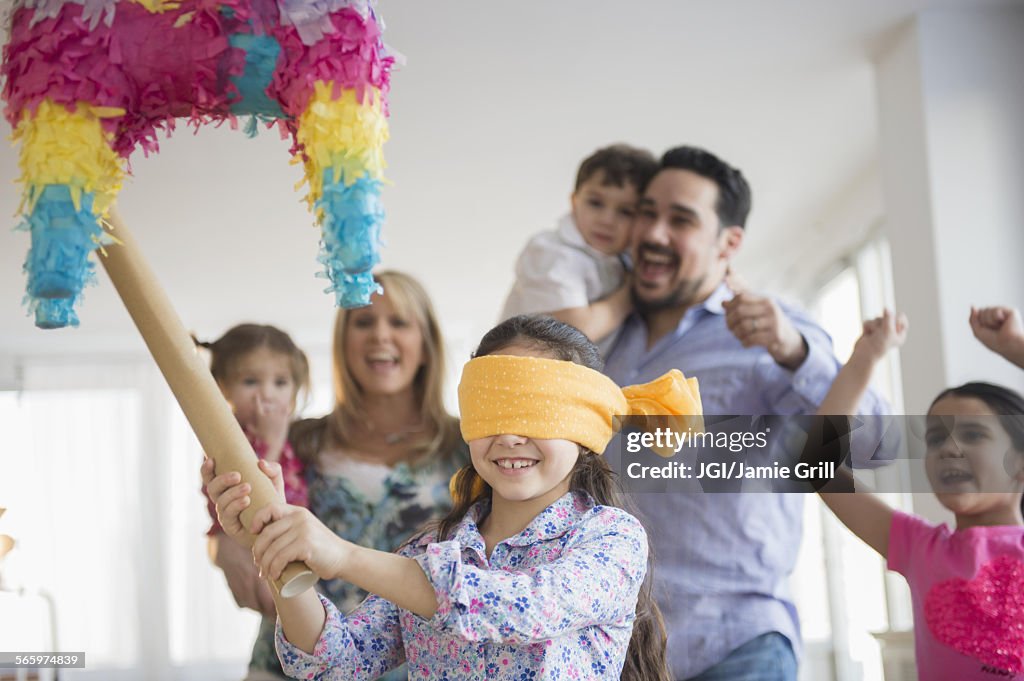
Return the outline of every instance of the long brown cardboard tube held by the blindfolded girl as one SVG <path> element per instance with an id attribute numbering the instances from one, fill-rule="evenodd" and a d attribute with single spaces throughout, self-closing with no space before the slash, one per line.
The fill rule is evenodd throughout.
<path id="1" fill-rule="evenodd" d="M 258 459 L 209 368 L 196 352 L 195 343 L 131 232 L 113 209 L 110 223 L 121 243 L 106 246 L 106 256 L 100 261 L 203 450 L 214 460 L 217 473 L 239 471 L 242 479 L 252 485 L 252 503 L 242 512 L 243 525 L 248 528 L 257 510 L 279 500 L 273 484 L 257 466 Z M 251 544 L 253 538 L 247 539 Z M 273 586 L 283 596 L 291 597 L 315 583 L 312 570 L 304 563 L 293 562 Z"/>

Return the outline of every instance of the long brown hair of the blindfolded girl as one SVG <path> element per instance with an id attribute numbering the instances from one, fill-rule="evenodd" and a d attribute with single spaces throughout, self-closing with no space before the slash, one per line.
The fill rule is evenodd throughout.
<path id="1" fill-rule="evenodd" d="M 556 359 L 573 361 L 600 371 L 604 363 L 597 347 L 574 327 L 562 324 L 549 316 L 514 316 L 492 329 L 480 341 L 473 353 L 474 357 L 494 354 L 511 345 L 536 347 Z M 580 446 L 580 458 L 570 473 L 569 490 L 586 492 L 602 506 L 622 508 L 633 515 L 639 515 L 633 505 L 622 494 L 618 478 L 603 457 L 585 446 Z M 437 525 L 437 539 L 444 541 L 462 521 L 469 508 L 481 499 L 490 497 L 490 487 L 485 483 L 480 492 L 479 476 L 470 465 L 456 473 L 453 482 L 455 508 Z M 473 495 L 476 491 L 478 494 Z M 622 678 L 625 681 L 671 681 L 666 661 L 665 621 L 662 610 L 651 594 L 652 553 L 647 556 L 647 576 L 640 585 L 637 598 L 636 621 L 633 636 L 623 665 Z"/>

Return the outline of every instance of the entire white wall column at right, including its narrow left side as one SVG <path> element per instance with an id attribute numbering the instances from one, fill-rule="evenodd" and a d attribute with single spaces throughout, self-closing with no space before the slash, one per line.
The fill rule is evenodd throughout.
<path id="1" fill-rule="evenodd" d="M 907 409 L 971 379 L 1024 388 L 971 305 L 1024 304 L 1024 8 L 934 9 L 880 56 L 880 154 Z"/>

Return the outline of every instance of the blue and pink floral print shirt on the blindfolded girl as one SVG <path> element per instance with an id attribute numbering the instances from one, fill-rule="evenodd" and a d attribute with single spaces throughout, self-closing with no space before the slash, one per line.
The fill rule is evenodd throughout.
<path id="1" fill-rule="evenodd" d="M 375 679 L 409 663 L 436 681 L 617 679 L 640 585 L 647 536 L 617 508 L 569 493 L 486 556 L 474 505 L 444 542 L 423 536 L 399 553 L 419 562 L 437 595 L 425 620 L 376 595 L 347 616 L 328 599 L 314 653 L 285 639 L 278 652 L 297 679 Z"/>

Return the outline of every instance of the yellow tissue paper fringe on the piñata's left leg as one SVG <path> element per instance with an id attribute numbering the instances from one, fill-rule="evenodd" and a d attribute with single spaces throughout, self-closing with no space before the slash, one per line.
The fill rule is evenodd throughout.
<path id="1" fill-rule="evenodd" d="M 83 193 L 92 193 L 96 216 L 106 215 L 124 181 L 113 136 L 101 119 L 124 116 L 123 109 L 79 103 L 74 111 L 44 99 L 35 116 L 26 111 L 11 139 L 20 141 L 18 165 L 25 184 L 18 213 L 31 213 L 47 184 L 67 184 L 76 209 Z"/>

